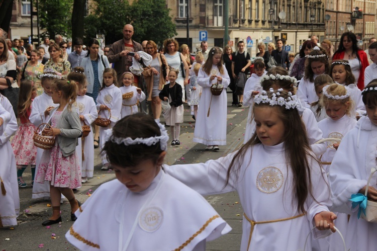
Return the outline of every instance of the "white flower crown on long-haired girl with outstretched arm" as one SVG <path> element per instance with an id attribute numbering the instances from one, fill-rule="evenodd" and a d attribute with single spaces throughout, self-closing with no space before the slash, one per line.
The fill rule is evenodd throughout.
<path id="1" fill-rule="evenodd" d="M 299 111 L 303 110 L 303 107 L 299 100 L 292 98 L 292 93 L 288 93 L 288 98 L 285 99 L 284 97 L 280 97 L 280 92 L 282 92 L 282 89 L 278 89 L 276 92 L 273 90 L 273 88 L 270 88 L 268 93 L 272 94 L 272 97 L 269 98 L 266 91 L 262 91 L 261 94 L 258 94 L 254 97 L 254 103 L 255 104 L 268 104 L 270 106 L 281 106 L 285 107 L 286 110 L 290 109 L 297 109 Z"/>

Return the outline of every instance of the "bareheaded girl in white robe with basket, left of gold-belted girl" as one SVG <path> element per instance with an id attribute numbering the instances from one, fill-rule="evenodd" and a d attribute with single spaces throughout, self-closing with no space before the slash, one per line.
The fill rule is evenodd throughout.
<path id="1" fill-rule="evenodd" d="M 100 127 L 100 149 L 105 145 L 104 131 L 112 128 L 118 120 L 121 119 L 122 109 L 122 92 L 116 87 L 117 72 L 113 68 L 106 68 L 104 70 L 104 79 L 102 88 L 97 97 L 97 110 L 101 118 L 108 118 L 111 123 L 108 127 Z M 111 117 L 110 117 L 111 113 Z M 110 117 L 110 118 L 109 118 Z M 109 170 L 109 161 L 104 154 L 101 154 L 102 170 Z"/>

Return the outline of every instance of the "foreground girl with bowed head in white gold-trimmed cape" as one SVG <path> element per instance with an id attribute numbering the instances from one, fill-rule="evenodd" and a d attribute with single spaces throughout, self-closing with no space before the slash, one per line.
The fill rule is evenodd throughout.
<path id="1" fill-rule="evenodd" d="M 161 169 L 169 140 L 161 123 L 137 113 L 105 133 L 117 179 L 76 211 L 65 234 L 70 243 L 80 250 L 204 251 L 206 241 L 231 230 L 201 195 Z"/>

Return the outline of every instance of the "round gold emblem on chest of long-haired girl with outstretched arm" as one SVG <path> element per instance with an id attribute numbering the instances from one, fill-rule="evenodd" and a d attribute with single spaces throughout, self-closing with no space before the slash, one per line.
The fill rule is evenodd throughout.
<path id="1" fill-rule="evenodd" d="M 270 194 L 279 190 L 284 181 L 280 170 L 274 166 L 268 166 L 259 171 L 256 178 L 256 185 L 260 192 Z"/>

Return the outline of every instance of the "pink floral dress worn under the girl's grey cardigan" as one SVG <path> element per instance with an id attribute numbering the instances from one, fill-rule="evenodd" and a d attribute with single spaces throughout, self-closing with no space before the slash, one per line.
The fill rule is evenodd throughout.
<path id="1" fill-rule="evenodd" d="M 56 128 L 62 112 L 55 111 L 51 118 L 51 127 Z M 57 136 L 61 137 L 61 136 Z M 77 188 L 81 186 L 81 170 L 76 152 L 64 157 L 57 139 L 50 150 L 44 150 L 36 182 L 44 183 L 49 181 L 51 186 L 59 188 Z"/>

